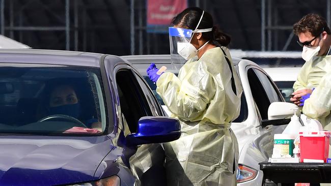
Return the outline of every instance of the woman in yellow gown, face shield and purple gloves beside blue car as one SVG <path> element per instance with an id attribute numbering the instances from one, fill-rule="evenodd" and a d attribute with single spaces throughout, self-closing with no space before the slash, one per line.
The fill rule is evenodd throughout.
<path id="1" fill-rule="evenodd" d="M 180 139 L 164 143 L 168 185 L 236 185 L 238 143 L 230 129 L 240 112 L 242 86 L 210 14 L 188 8 L 169 28 L 173 63 L 187 60 L 178 76 L 147 69 L 157 93 L 181 121 Z M 180 57 L 181 56 L 181 57 Z"/>

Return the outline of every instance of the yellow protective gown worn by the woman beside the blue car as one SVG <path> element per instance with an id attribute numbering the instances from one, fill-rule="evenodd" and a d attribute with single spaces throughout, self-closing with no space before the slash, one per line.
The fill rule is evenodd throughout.
<path id="1" fill-rule="evenodd" d="M 183 132 L 163 144 L 168 185 L 236 185 L 238 142 L 230 126 L 239 115 L 242 87 L 224 50 L 229 64 L 216 47 L 188 60 L 178 77 L 167 72 L 156 82 Z"/>

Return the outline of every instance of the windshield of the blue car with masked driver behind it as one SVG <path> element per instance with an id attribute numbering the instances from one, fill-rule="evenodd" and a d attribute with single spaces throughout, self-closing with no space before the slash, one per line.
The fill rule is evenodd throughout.
<path id="1" fill-rule="evenodd" d="M 99 135 L 103 92 L 98 68 L 1 64 L 0 133 Z"/>

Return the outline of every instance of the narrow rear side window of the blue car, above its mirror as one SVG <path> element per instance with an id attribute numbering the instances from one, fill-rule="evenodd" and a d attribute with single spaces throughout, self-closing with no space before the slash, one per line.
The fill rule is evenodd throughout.
<path id="1" fill-rule="evenodd" d="M 139 82 L 140 86 L 142 87 L 142 90 L 145 94 L 147 103 L 149 104 L 149 107 L 152 111 L 153 116 L 162 116 L 163 113 L 161 111 L 161 106 L 157 102 L 155 96 L 153 95 L 153 92 L 151 91 L 150 87 L 146 83 L 146 81 L 143 80 L 143 78 L 137 74 L 136 72 L 134 73 L 137 81 Z"/>

